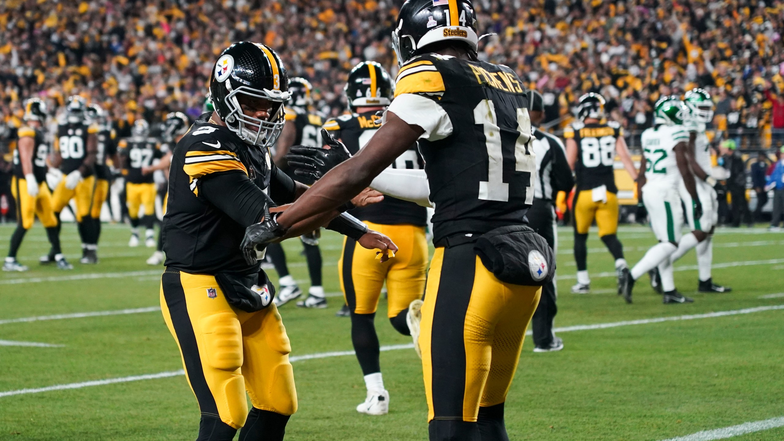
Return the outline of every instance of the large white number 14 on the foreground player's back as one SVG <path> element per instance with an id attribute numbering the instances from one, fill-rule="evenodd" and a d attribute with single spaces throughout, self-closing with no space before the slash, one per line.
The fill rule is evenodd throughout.
<path id="1" fill-rule="evenodd" d="M 481 100 L 477 104 L 474 108 L 474 123 L 483 126 L 485 146 L 488 149 L 488 180 L 479 181 L 479 199 L 508 202 L 509 184 L 503 181 L 501 131 L 492 100 Z M 525 148 L 525 145 L 533 139 L 528 109 L 517 109 L 517 131 L 520 136 L 514 143 L 514 170 L 508 170 L 507 175 L 511 176 L 514 172 L 531 173 L 525 188 L 525 203 L 531 204 L 534 199 L 532 183 L 536 174 L 536 159 Z"/>

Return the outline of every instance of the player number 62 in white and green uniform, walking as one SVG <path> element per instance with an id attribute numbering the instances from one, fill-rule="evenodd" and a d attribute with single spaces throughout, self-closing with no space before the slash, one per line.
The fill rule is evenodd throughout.
<path id="1" fill-rule="evenodd" d="M 640 176 L 637 177 L 637 194 L 638 199 L 644 202 L 651 218 L 651 229 L 659 243 L 652 246 L 631 271 L 623 270 L 619 289 L 626 302 L 631 303 L 635 280 L 658 267 L 663 302 L 689 303 L 693 300 L 675 289 L 673 264 L 670 261 L 670 256 L 675 253 L 681 240 L 681 225 L 684 221 L 681 197 L 678 195 L 679 180 L 683 180 L 691 196 L 692 203 L 687 210 L 693 210 L 696 218 L 702 218 L 702 203 L 697 197 L 695 177 L 691 172 L 695 164 L 690 160 L 689 134 L 683 126 L 688 109 L 677 97 L 662 97 L 655 104 L 654 115 L 655 126 L 645 129 L 641 137 L 643 158 L 640 162 Z"/>

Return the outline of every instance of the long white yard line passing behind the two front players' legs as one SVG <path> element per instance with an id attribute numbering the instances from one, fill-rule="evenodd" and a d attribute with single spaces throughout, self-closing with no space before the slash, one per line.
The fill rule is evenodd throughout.
<path id="1" fill-rule="evenodd" d="M 784 309 L 784 304 L 777 304 L 775 306 L 760 306 L 757 308 L 736 309 L 734 311 L 709 312 L 707 314 L 675 315 L 673 317 L 659 317 L 656 319 L 641 319 L 641 320 L 629 320 L 626 322 L 596 323 L 593 325 L 567 326 L 563 328 L 556 328 L 554 331 L 570 332 L 575 330 L 599 330 L 604 328 L 612 328 L 616 326 L 642 325 L 645 323 L 659 323 L 659 322 L 669 322 L 675 320 L 707 319 L 710 317 L 722 317 L 724 315 L 750 314 L 752 312 L 771 311 L 775 309 Z M 531 335 L 531 333 L 532 333 L 531 331 L 528 331 L 526 335 Z M 414 344 L 408 343 L 408 344 L 391 344 L 389 346 L 382 346 L 379 349 L 381 351 L 395 351 L 397 349 L 411 349 L 413 347 Z M 289 357 L 289 361 L 294 363 L 303 360 L 326 359 L 331 357 L 354 355 L 354 353 L 355 353 L 354 351 L 336 351 L 336 352 L 318 352 L 315 354 L 306 354 L 306 355 L 292 355 Z M 112 383 L 125 383 L 127 381 L 151 380 L 154 378 L 163 378 L 163 377 L 176 377 L 177 375 L 184 375 L 184 374 L 185 372 L 183 370 L 174 370 L 170 372 L 159 372 L 158 374 L 134 375 L 132 377 L 109 378 L 107 380 L 98 380 L 98 381 L 84 381 L 82 383 L 71 383 L 68 385 L 47 386 L 45 388 L 20 389 L 16 391 L 0 392 L 0 398 L 4 396 L 10 396 L 10 395 L 32 394 L 38 392 L 58 391 L 62 389 L 78 389 L 78 388 L 85 388 L 88 386 L 111 385 Z M 706 438 L 706 439 L 718 439 L 718 438 Z M 672 440 L 666 440 L 666 441 L 672 441 Z M 697 440 L 690 439 L 689 441 L 697 441 Z"/>

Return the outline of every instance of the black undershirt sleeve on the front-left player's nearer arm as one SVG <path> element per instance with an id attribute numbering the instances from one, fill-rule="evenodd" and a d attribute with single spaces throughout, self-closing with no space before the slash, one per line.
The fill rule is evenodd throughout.
<path id="1" fill-rule="evenodd" d="M 256 224 L 264 215 L 270 198 L 256 187 L 245 173 L 210 173 L 199 180 L 199 196 L 243 227 Z"/>

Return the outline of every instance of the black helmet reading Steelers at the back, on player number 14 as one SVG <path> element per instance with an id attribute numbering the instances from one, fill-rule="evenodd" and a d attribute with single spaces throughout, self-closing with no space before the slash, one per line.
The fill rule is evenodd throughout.
<path id="1" fill-rule="evenodd" d="M 425 46 L 445 40 L 468 43 L 476 52 L 477 13 L 470 0 L 406 0 L 397 14 L 392 47 L 397 63 L 426 53 Z"/>

